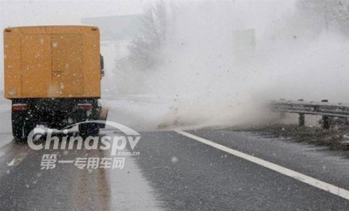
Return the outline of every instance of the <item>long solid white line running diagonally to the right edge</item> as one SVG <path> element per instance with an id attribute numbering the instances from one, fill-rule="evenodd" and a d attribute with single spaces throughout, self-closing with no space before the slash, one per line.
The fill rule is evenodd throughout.
<path id="1" fill-rule="evenodd" d="M 190 134 L 188 132 L 184 132 L 181 130 L 175 130 L 175 132 L 182 134 L 184 136 L 187 136 L 188 138 L 194 139 L 196 141 L 199 141 L 201 143 L 205 143 L 211 147 L 214 147 L 218 150 L 222 150 L 225 153 L 229 153 L 231 155 L 235 155 L 237 157 L 241 157 L 242 159 L 246 159 L 250 162 L 253 162 L 255 164 L 258 164 L 260 166 L 264 166 L 267 169 L 272 169 L 273 171 L 282 173 L 283 175 L 287 175 L 291 178 L 294 178 L 295 180 L 299 180 L 301 182 L 304 182 L 308 185 L 311 185 L 313 187 L 317 187 L 319 189 L 324 190 L 325 192 L 329 192 L 331 194 L 334 194 L 336 196 L 341 196 L 342 198 L 346 198 L 347 200 L 349 200 L 349 191 L 346 189 L 343 189 L 341 187 L 337 187 L 335 185 L 331 185 L 327 182 L 322 182 L 321 180 L 317 180 L 315 178 L 312 178 L 308 175 L 305 175 L 303 173 L 299 173 L 297 171 L 293 171 L 291 169 L 287 169 L 283 166 L 279 166 L 277 164 L 274 164 L 272 162 L 267 162 L 264 159 L 260 159 L 258 157 L 253 157 L 252 155 L 247 155 L 245 153 L 239 152 L 237 150 L 233 150 L 231 148 L 228 148 L 226 146 L 223 146 L 221 144 L 218 143 L 214 143 L 213 141 L 209 141 L 207 139 L 201 138 L 199 136 L 195 136 L 193 134 Z"/>

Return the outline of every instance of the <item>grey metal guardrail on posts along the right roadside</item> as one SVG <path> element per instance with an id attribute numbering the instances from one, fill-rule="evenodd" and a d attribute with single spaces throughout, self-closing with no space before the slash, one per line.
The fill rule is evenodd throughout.
<path id="1" fill-rule="evenodd" d="M 349 104 L 329 103 L 304 100 L 273 100 L 270 104 L 272 111 L 299 114 L 299 125 L 304 126 L 305 114 L 322 116 L 322 127 L 329 129 L 333 118 L 349 118 Z"/>

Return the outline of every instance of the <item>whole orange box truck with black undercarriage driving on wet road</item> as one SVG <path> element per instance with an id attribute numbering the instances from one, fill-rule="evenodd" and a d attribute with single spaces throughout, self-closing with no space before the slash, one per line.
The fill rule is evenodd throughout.
<path id="1" fill-rule="evenodd" d="M 4 29 L 5 98 L 12 101 L 12 130 L 26 140 L 36 125 L 62 129 L 106 120 L 104 75 L 96 26 L 22 26 Z M 79 124 L 98 134 L 102 124 Z"/>

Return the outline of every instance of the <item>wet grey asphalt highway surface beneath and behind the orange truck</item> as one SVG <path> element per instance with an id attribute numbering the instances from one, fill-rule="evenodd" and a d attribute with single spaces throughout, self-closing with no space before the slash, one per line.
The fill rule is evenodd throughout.
<path id="1" fill-rule="evenodd" d="M 33 150 L 1 125 L 0 210 L 349 210 L 344 154 L 228 130 L 140 135 L 122 169 L 80 169 L 68 162 L 110 151 Z M 44 154 L 66 163 L 43 169 Z"/>

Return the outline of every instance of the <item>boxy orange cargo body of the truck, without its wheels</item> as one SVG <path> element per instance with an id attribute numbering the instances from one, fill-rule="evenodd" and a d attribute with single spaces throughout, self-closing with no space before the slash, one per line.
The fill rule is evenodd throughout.
<path id="1" fill-rule="evenodd" d="M 5 97 L 101 97 L 95 26 L 24 26 L 3 31 Z"/>

